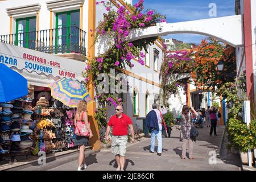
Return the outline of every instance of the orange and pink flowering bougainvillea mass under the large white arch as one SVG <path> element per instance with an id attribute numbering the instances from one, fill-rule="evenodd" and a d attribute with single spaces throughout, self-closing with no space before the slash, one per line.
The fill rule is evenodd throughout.
<path id="1" fill-rule="evenodd" d="M 223 71 L 217 64 L 222 61 Z M 187 77 L 177 79 L 174 75 L 190 73 Z M 164 59 L 160 69 L 164 97 L 179 94 L 179 86 L 186 90 L 192 81 L 198 90 L 215 90 L 225 82 L 234 81 L 236 76 L 236 52 L 231 46 L 212 38 L 202 40 L 196 50 L 170 52 L 164 46 Z M 164 98 L 164 100 L 166 100 Z"/>

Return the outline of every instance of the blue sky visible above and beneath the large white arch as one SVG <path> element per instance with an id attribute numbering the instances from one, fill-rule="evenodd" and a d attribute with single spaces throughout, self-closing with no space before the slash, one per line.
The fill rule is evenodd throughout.
<path id="1" fill-rule="evenodd" d="M 138 0 L 133 0 L 133 4 L 137 2 Z M 235 0 L 144 0 L 144 9 L 154 9 L 158 13 L 166 15 L 168 23 L 175 23 L 235 15 L 234 2 Z M 216 17 L 209 16 L 210 3 L 216 3 Z M 196 34 L 172 34 L 163 38 L 174 38 L 185 43 L 200 44 L 201 40 L 206 37 Z"/>

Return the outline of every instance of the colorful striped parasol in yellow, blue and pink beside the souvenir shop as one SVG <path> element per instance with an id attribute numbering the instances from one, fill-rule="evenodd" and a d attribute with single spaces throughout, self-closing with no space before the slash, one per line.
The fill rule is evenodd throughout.
<path id="1" fill-rule="evenodd" d="M 78 81 L 61 78 L 59 81 L 49 84 L 49 88 L 51 88 L 53 98 L 69 107 L 76 107 L 81 100 L 85 100 L 87 104 L 92 101 L 85 86 Z"/>

